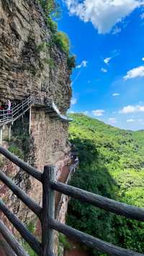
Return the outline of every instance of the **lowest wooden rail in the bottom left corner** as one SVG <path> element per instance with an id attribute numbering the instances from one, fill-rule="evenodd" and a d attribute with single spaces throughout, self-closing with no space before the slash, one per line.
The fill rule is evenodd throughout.
<path id="1" fill-rule="evenodd" d="M 24 252 L 24 249 L 22 248 L 22 246 L 19 244 L 19 242 L 17 242 L 14 235 L 9 231 L 9 229 L 6 228 L 6 226 L 1 220 L 0 220 L 0 231 L 4 239 L 6 240 L 6 242 L 8 242 L 10 247 L 12 247 L 12 249 L 17 254 L 17 256 L 28 256 L 27 252 Z"/>

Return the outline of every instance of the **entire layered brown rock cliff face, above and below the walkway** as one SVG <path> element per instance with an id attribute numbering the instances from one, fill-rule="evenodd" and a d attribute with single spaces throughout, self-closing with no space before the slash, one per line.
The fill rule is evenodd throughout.
<path id="1" fill-rule="evenodd" d="M 0 97 L 1 102 L 11 99 L 19 102 L 34 93 L 50 97 L 60 112 L 66 113 L 71 102 L 71 81 L 67 59 L 56 45 L 40 50 L 40 46 L 52 38 L 52 32 L 45 25 L 40 6 L 34 0 L 0 0 Z M 39 49 L 39 50 L 38 50 Z M 50 61 L 53 59 L 53 66 Z M 32 107 L 31 134 L 28 136 L 29 112 L 17 120 L 12 127 L 12 143 L 17 144 L 17 133 L 21 131 L 21 149 L 25 144 L 24 160 L 41 171 L 45 164 L 55 164 L 57 178 L 65 175 L 71 164 L 68 146 L 68 123 L 50 118 L 45 110 Z M 25 125 L 27 124 L 27 125 Z M 25 128 L 25 126 L 27 126 Z M 6 129 L 5 129 L 6 133 Z M 23 138 L 27 133 L 27 140 Z M 24 145 L 22 145 L 24 143 Z M 3 141 L 7 149 L 9 145 Z M 40 182 L 25 174 L 11 162 L 0 158 L 3 171 L 24 191 L 42 202 Z M 26 224 L 35 220 L 29 209 L 20 202 L 5 185 L 0 183 L 0 196 L 19 219 Z M 65 221 L 68 198 L 63 201 L 58 219 Z M 14 234 L 17 232 L 0 213 L 5 224 Z M 36 222 L 35 222 L 36 224 Z M 40 234 L 39 224 L 35 234 Z M 56 247 L 55 247 L 56 248 Z M 56 251 L 55 251 L 56 252 Z"/>

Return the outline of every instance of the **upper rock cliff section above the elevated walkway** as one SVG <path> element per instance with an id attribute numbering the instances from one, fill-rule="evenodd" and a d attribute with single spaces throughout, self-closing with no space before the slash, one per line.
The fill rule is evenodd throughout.
<path id="1" fill-rule="evenodd" d="M 35 0 L 0 1 L 0 95 L 22 100 L 31 93 L 52 97 L 61 112 L 71 99 L 65 54 L 50 44 L 52 33 L 45 25 Z M 50 60 L 53 59 L 53 67 Z"/>

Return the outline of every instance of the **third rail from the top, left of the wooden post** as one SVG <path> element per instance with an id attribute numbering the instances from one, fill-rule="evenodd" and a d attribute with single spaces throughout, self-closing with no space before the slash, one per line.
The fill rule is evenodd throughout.
<path id="1" fill-rule="evenodd" d="M 30 244 L 30 247 L 37 253 L 37 255 L 41 255 L 42 248 L 40 242 L 37 241 L 37 239 L 26 229 L 24 224 L 17 219 L 16 216 L 14 216 L 14 213 L 9 211 L 9 209 L 6 207 L 4 202 L 0 199 L 0 210 L 6 215 L 7 219 L 12 222 L 14 227 L 19 231 L 19 233 L 22 235 L 24 240 Z"/>

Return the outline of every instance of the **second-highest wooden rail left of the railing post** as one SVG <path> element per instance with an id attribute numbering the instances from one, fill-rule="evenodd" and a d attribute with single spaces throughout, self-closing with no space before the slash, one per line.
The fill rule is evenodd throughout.
<path id="1" fill-rule="evenodd" d="M 4 184 L 12 190 L 12 192 L 17 195 L 18 198 L 22 200 L 23 203 L 26 204 L 40 219 L 40 213 L 42 208 L 35 203 L 20 187 L 14 184 L 9 177 L 7 177 L 4 172 L 0 170 L 0 180 L 4 182 Z"/>

